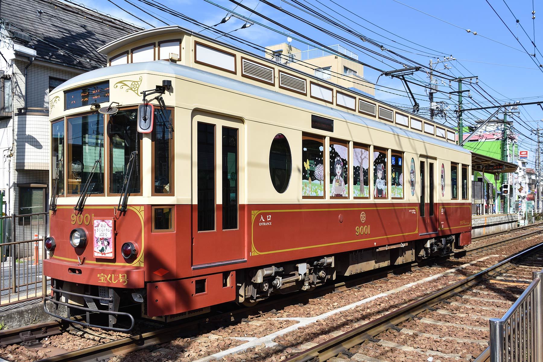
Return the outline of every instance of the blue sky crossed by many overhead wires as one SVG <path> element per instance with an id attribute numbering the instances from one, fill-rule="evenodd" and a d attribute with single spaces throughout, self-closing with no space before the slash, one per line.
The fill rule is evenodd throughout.
<path id="1" fill-rule="evenodd" d="M 118 9 L 115 5 L 107 0 L 85 0 L 83 2 L 89 8 L 96 8 L 106 14 L 123 18 L 145 28 L 150 28 L 149 25 L 142 23 L 130 14 L 153 24 L 154 26 L 163 26 L 164 24 L 157 21 L 155 18 L 145 14 L 141 10 L 136 9 L 126 1 L 113 0 L 119 7 L 127 10 L 127 12 Z M 155 0 L 148 0 L 154 2 Z M 209 1 L 209 2 L 208 2 Z M 326 35 L 320 30 L 302 23 L 293 17 L 283 14 L 279 10 L 271 8 L 269 5 L 258 0 L 243 0 L 242 4 L 261 12 L 263 15 L 279 22 L 282 26 L 291 28 L 299 33 L 309 37 L 312 40 L 319 41 L 325 45 L 334 45 L 340 43 L 346 48 L 349 48 L 359 56 L 359 60 L 375 66 L 384 71 L 390 69 L 402 68 L 402 62 L 406 65 L 412 65 L 409 60 L 428 65 L 430 59 L 435 63 L 438 61 L 437 69 L 453 77 L 467 77 L 477 75 L 479 77 L 478 85 L 464 84 L 463 89 L 471 89 L 473 100 L 478 101 L 482 105 L 489 105 L 489 102 L 484 99 L 475 90 L 479 90 L 490 99 L 490 96 L 500 100 L 502 103 L 510 100 L 533 101 L 543 99 L 543 89 L 541 83 L 543 81 L 543 68 L 538 65 L 543 63 L 543 56 L 539 54 L 539 48 L 535 50 L 536 57 L 529 54 L 534 53 L 532 40 L 534 39 L 535 27 L 535 44 L 538 45 L 538 40 L 543 39 L 543 7 L 535 2 L 535 20 L 532 20 L 532 2 L 531 1 L 513 1 L 513 0 L 488 0 L 494 7 L 496 12 L 501 16 L 507 24 L 513 35 L 507 27 L 502 23 L 500 18 L 495 14 L 494 10 L 487 3 L 487 0 L 457 0 L 449 2 L 428 2 L 428 1 L 410 1 L 410 0 L 379 0 L 379 1 L 355 1 L 355 0 L 268 0 L 277 7 L 300 15 L 306 20 L 314 24 L 332 30 L 333 34 L 346 37 L 357 44 L 375 50 L 378 55 L 369 56 L 369 52 L 363 49 L 355 48 L 346 45 L 344 42 L 334 39 L 333 36 Z M 138 0 L 130 0 L 130 2 L 142 7 L 147 11 L 154 13 L 155 16 L 161 18 L 168 24 L 179 24 L 181 26 L 191 28 L 193 30 L 201 30 L 201 28 L 193 24 L 182 21 L 172 15 L 165 14 L 160 10 L 150 7 Z M 252 14 L 248 10 L 229 0 L 161 0 L 160 4 L 179 11 L 186 16 L 190 16 L 195 20 L 211 26 L 218 23 L 228 11 L 210 4 L 213 2 L 220 7 L 228 10 L 234 10 L 236 13 L 249 17 L 255 23 L 247 29 L 239 29 L 232 33 L 242 37 L 243 39 L 254 42 L 260 46 L 273 45 L 286 40 L 288 30 L 282 29 L 269 21 L 263 20 L 257 14 Z M 298 4 L 296 4 L 298 2 Z M 335 2 L 335 3 L 334 3 Z M 321 14 L 327 17 L 334 17 L 338 22 L 344 23 L 356 33 L 362 34 L 369 39 L 375 40 L 378 44 L 383 45 L 384 49 L 390 49 L 397 54 L 406 56 L 409 60 L 401 60 L 394 62 L 384 60 L 381 55 L 390 56 L 400 60 L 398 56 L 392 55 L 387 50 L 381 50 L 379 47 L 371 45 L 369 42 L 362 42 L 352 34 L 348 34 L 343 30 L 334 28 L 331 24 L 326 24 L 311 15 L 305 14 L 293 7 L 293 4 L 300 6 L 304 4 L 313 6 L 321 11 Z M 350 10 L 349 13 L 345 9 Z M 510 10 L 507 8 L 509 6 Z M 540 7 L 540 9 L 538 8 Z M 413 9 L 414 8 L 414 9 Z M 417 10 L 415 10 L 417 9 Z M 515 16 L 511 14 L 511 12 Z M 426 14 L 423 14 L 425 12 Z M 129 14 L 130 13 L 130 14 Z M 516 18 L 519 23 L 516 23 Z M 373 24 L 371 24 L 371 23 Z M 262 25 L 258 24 L 261 23 Z M 217 29 L 231 31 L 240 28 L 244 24 L 243 20 L 232 17 L 225 24 L 220 24 Z M 374 25 L 375 24 L 375 25 Z M 526 30 L 528 36 L 522 30 L 520 25 Z M 279 34 L 273 30 L 267 29 L 270 27 L 282 31 L 284 34 Z M 380 28 L 382 29 L 380 29 Z M 470 32 L 466 31 L 469 29 Z M 477 33 L 477 35 L 473 35 Z M 204 31 L 204 34 L 216 37 L 216 34 Z M 295 34 L 289 34 L 293 37 L 292 45 L 305 50 L 308 45 L 297 39 L 302 37 Z M 517 42 L 515 37 L 518 37 L 521 44 Z M 386 39 L 389 38 L 389 39 Z M 403 39 L 401 39 L 403 38 Z M 229 40 L 230 41 L 230 40 Z M 307 41 L 310 42 L 311 41 Z M 237 46 L 239 43 L 233 42 Z M 543 43 L 542 43 L 543 44 Z M 253 50 L 253 49 L 251 49 Z M 256 50 L 254 50 L 256 52 Z M 258 53 L 258 52 L 256 52 Z M 541 46 L 543 54 L 543 45 Z M 262 53 L 260 53 L 262 55 Z M 451 56 L 456 60 L 443 61 L 444 56 Z M 380 60 L 384 60 L 385 63 Z M 535 63 L 534 63 L 535 60 Z M 447 69 L 445 69 L 445 67 Z M 375 82 L 380 72 L 374 71 L 365 67 L 364 77 L 372 82 Z M 414 76 L 414 80 L 428 84 L 428 76 L 425 72 L 418 72 Z M 475 80 L 474 80 L 475 81 Z M 381 77 L 378 85 L 394 88 L 381 88 L 377 91 L 376 97 L 389 101 L 397 105 L 405 107 L 411 104 L 411 101 L 406 96 L 405 88 L 397 79 Z M 449 87 L 449 81 L 439 81 L 439 89 L 450 92 L 456 91 L 457 85 L 452 84 Z M 487 91 L 490 96 L 481 90 L 481 86 Z M 377 87 L 377 89 L 380 89 Z M 421 114 L 428 113 L 428 97 L 425 88 L 412 86 L 416 96 L 421 98 Z M 401 94 L 391 94 L 385 91 Z M 464 96 L 468 96 L 464 93 Z M 457 107 L 457 96 L 453 95 L 449 99 L 448 94 L 439 94 L 438 100 L 443 101 L 443 106 L 446 109 L 447 117 L 435 118 L 437 122 L 447 125 L 456 123 L 454 110 Z M 475 104 L 470 104 L 470 99 L 464 97 L 464 108 L 476 107 Z M 488 113 L 487 117 L 488 117 Z M 543 127 L 543 110 L 537 105 L 519 107 L 519 112 L 514 118 L 514 128 L 519 135 L 520 149 L 535 149 L 535 135 L 530 131 L 538 125 Z M 473 123 L 473 120 L 484 117 L 484 112 L 471 112 L 470 115 L 465 115 L 468 124 Z M 484 117 L 484 118 L 487 118 Z M 543 131 L 541 132 L 543 135 Z M 543 140 L 543 137 L 541 138 Z M 531 153 L 533 162 L 533 152 Z M 532 163 L 533 164 L 533 163 Z"/>

